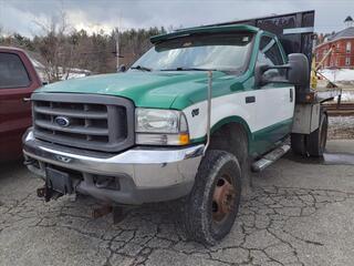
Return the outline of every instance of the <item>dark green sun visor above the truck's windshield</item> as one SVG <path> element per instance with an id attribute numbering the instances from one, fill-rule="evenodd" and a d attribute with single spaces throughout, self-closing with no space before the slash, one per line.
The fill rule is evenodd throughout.
<path id="1" fill-rule="evenodd" d="M 195 27 L 174 31 L 167 34 L 155 35 L 150 38 L 152 43 L 156 44 L 162 41 L 167 41 L 170 39 L 179 37 L 188 37 L 199 33 L 230 33 L 230 32 L 252 32 L 257 33 L 260 29 L 253 25 L 247 24 L 229 24 L 229 25 L 212 25 L 212 27 Z"/>

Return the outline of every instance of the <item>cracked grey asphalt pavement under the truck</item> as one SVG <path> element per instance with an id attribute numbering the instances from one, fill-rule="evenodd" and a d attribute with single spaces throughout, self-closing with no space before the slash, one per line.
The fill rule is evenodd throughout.
<path id="1" fill-rule="evenodd" d="M 1 165 L 0 265 L 353 265 L 354 141 L 327 150 L 325 162 L 288 154 L 254 174 L 216 246 L 186 239 L 174 203 L 113 224 L 112 215 L 91 217 L 97 204 L 87 197 L 44 203 L 35 195 L 42 182 L 21 163 Z"/>

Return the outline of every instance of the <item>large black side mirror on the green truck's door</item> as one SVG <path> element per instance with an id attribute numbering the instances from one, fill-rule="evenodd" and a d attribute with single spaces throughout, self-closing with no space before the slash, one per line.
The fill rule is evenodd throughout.
<path id="1" fill-rule="evenodd" d="M 285 70 L 284 76 L 267 75 L 268 70 Z M 289 63 L 283 65 L 259 64 L 254 69 L 256 86 L 268 83 L 290 83 L 306 89 L 310 84 L 309 60 L 303 53 L 289 54 Z"/>

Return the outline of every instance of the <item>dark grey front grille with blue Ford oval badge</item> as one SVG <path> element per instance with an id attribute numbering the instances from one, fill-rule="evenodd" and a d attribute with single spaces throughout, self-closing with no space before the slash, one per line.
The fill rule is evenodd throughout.
<path id="1" fill-rule="evenodd" d="M 104 152 L 134 144 L 134 105 L 127 99 L 34 93 L 32 104 L 34 136 L 40 140 Z"/>

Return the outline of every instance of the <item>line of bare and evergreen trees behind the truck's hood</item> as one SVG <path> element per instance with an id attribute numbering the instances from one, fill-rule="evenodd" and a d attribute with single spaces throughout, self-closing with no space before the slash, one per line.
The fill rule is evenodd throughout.
<path id="1" fill-rule="evenodd" d="M 152 44 L 149 38 L 166 33 L 165 28 L 113 30 L 88 34 L 85 30 L 67 30 L 65 23 L 42 25 L 42 34 L 27 38 L 19 33 L 2 35 L 0 45 L 24 49 L 44 65 L 48 81 L 58 81 L 74 69 L 88 70 L 93 74 L 116 72 L 119 64 L 129 66 L 147 51 Z M 116 42 L 118 41 L 118 50 Z"/>

